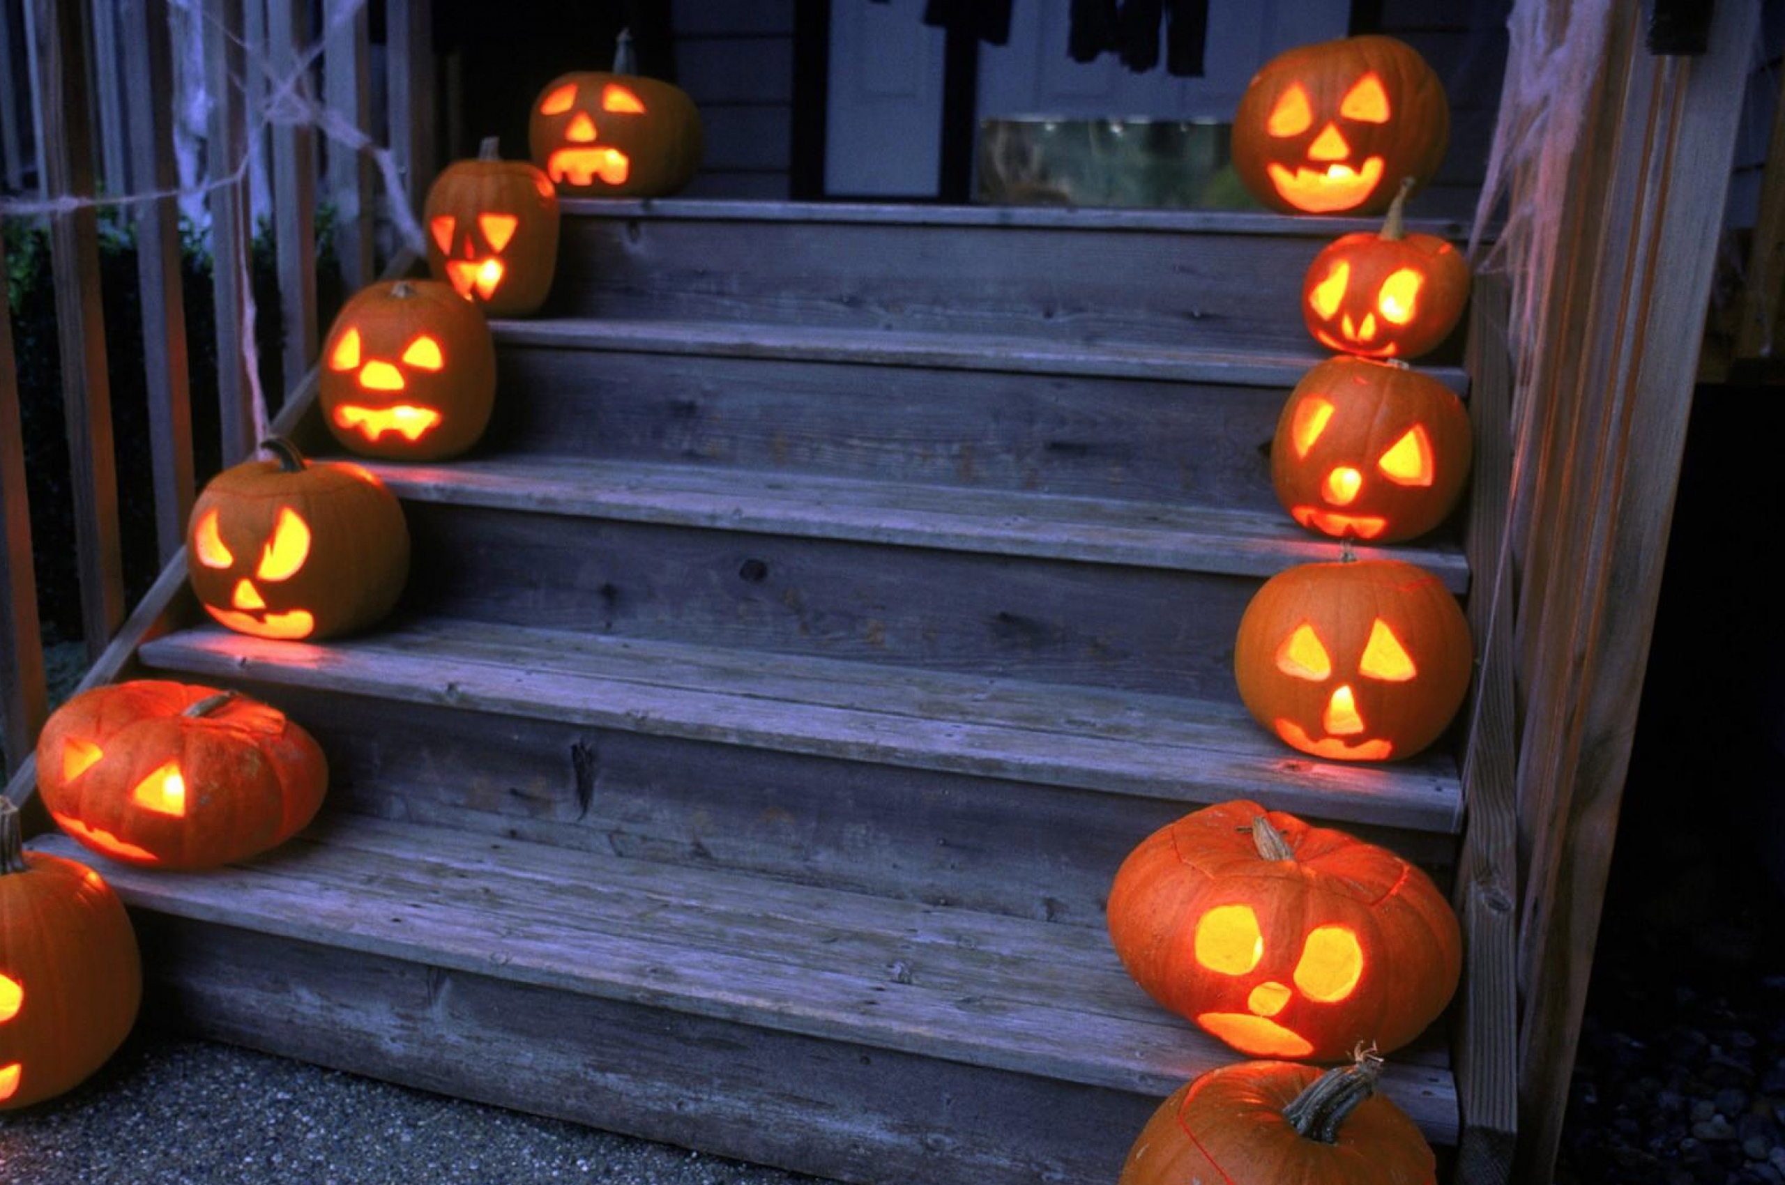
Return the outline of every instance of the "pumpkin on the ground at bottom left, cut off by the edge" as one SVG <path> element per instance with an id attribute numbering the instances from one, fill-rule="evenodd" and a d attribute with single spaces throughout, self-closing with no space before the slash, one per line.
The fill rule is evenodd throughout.
<path id="1" fill-rule="evenodd" d="M 136 1023 L 143 965 L 118 894 L 75 860 L 25 851 L 0 798 L 0 1110 L 79 1085 Z"/>

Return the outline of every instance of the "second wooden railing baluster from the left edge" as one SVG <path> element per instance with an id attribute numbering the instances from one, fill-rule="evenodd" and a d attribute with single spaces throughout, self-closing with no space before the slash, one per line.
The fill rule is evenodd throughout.
<path id="1" fill-rule="evenodd" d="M 98 212 L 91 205 L 96 187 L 87 111 L 87 34 L 82 5 L 30 0 L 25 12 L 36 64 L 32 82 L 37 87 L 43 191 L 48 198 L 71 200 L 71 205 L 50 214 L 50 259 L 75 503 L 80 628 L 87 655 L 96 659 L 123 623 L 125 603 Z"/>

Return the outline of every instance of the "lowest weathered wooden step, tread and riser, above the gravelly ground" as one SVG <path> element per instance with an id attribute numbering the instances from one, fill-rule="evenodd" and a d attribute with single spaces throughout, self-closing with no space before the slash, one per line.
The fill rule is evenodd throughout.
<path id="1" fill-rule="evenodd" d="M 200 1030 L 851 1180 L 1105 1183 L 1233 1058 L 1089 930 L 362 817 L 221 873 L 98 867 Z M 1385 1089 L 1455 1142 L 1440 1048 Z"/>

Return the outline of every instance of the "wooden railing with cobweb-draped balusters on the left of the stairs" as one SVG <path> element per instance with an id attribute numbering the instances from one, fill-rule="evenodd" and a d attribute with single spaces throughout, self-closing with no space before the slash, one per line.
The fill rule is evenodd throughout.
<path id="1" fill-rule="evenodd" d="M 386 16 L 382 109 L 371 125 L 368 4 Z M 23 20 L 18 20 L 20 14 Z M 36 193 L 0 198 L 0 220 L 48 223 L 61 355 L 68 476 L 75 539 L 32 539 L 23 418 L 0 287 L 0 744 L 18 773 L 48 710 L 32 550 L 77 557 L 87 682 L 116 675 L 100 662 L 125 625 L 120 519 L 123 505 L 152 503 L 162 564 L 182 544 L 195 485 L 193 382 L 180 280 L 182 198 L 200 202 L 209 225 L 216 307 L 216 418 L 221 460 L 255 446 L 264 402 L 255 398 L 252 318 L 277 316 L 282 384 L 289 403 L 316 360 L 316 211 L 334 207 L 337 259 L 348 289 L 400 253 L 412 202 L 434 170 L 434 52 L 428 0 L 23 0 L 0 7 L 0 77 L 32 80 L 30 111 L 12 91 L 0 102 L 0 180 Z M 202 43 L 209 121 L 205 170 L 182 191 L 175 155 L 175 82 L 180 50 Z M 189 80 L 187 86 L 193 82 Z M 89 102 L 96 96 L 96 102 Z M 318 128 L 325 128 L 327 136 Z M 375 170 L 378 146 L 386 168 Z M 30 159 L 21 159 L 30 150 Z M 264 209 L 250 195 L 257 152 L 271 161 Z M 394 182 L 394 184 L 391 184 Z M 393 205 L 393 195 L 396 205 Z M 116 203 L 137 243 L 143 357 L 107 357 L 100 284 L 100 198 Z M 277 309 L 253 309 L 255 223 L 273 228 Z M 4 248 L 0 248 L 4 250 Z M 148 394 L 152 487 L 118 487 L 109 375 L 141 366 Z M 286 400 L 278 400 L 286 394 Z M 132 444 L 136 446 L 136 444 Z M 70 546 L 70 543 L 73 546 Z"/>

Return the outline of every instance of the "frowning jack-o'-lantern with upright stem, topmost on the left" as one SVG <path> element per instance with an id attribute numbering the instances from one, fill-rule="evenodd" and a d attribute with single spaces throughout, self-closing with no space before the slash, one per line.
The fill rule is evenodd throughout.
<path id="1" fill-rule="evenodd" d="M 700 111 L 682 87 L 641 77 L 632 39 L 621 32 L 610 73 L 568 73 L 546 84 L 534 100 L 527 141 L 534 164 L 560 191 L 662 198 L 700 168 Z"/>

